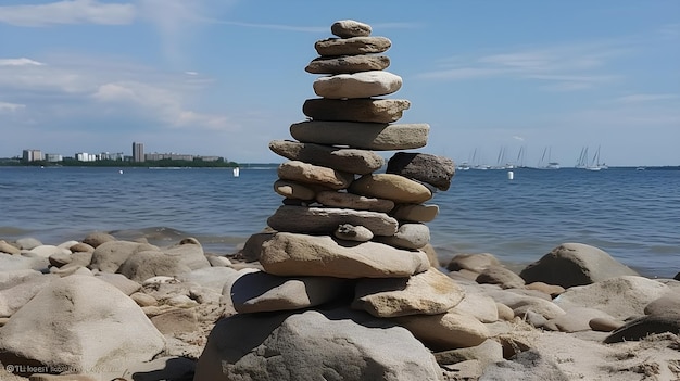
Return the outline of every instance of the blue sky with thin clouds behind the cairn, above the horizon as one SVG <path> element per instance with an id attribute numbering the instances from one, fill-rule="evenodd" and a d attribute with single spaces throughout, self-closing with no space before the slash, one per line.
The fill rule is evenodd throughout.
<path id="1" fill-rule="evenodd" d="M 581 148 L 680 165 L 680 1 L 3 0 L 0 156 L 125 152 L 281 162 L 338 20 L 392 40 L 418 150 L 495 164 Z M 386 153 L 389 157 L 392 153 Z"/>

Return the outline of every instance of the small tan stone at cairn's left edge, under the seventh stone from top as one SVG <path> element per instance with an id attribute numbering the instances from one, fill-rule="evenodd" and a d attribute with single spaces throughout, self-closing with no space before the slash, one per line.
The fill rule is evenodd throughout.
<path id="1" fill-rule="evenodd" d="M 308 182 L 330 189 L 345 189 L 354 179 L 353 174 L 299 161 L 290 161 L 279 165 L 278 177 L 281 180 Z"/>

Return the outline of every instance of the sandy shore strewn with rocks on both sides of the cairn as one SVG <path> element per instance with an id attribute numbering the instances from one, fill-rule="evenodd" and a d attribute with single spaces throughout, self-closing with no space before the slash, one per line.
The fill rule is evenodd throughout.
<path id="1" fill-rule="evenodd" d="M 227 256 L 203 252 L 192 238 L 165 247 L 143 240 L 117 240 L 101 232 L 59 245 L 43 244 L 38 239 L 0 241 L 0 378 L 210 379 L 205 376 L 205 369 L 210 369 L 207 357 L 219 356 L 209 344 L 215 340 L 211 331 L 217 321 L 237 316 L 273 316 L 277 313 L 267 310 L 293 303 L 292 296 L 282 293 L 269 295 L 256 307 L 250 303 L 254 296 L 249 293 L 260 297 L 268 292 L 253 291 L 252 285 L 242 283 L 248 275 L 265 274 L 262 263 L 253 257 L 253 247 L 261 247 L 262 242 L 253 241 Z M 572 263 L 576 258 L 582 261 L 580 269 L 563 261 L 561 272 L 551 274 L 549 257 L 564 259 L 566 252 L 572 254 Z M 143 261 L 134 264 L 133 257 Z M 451 290 L 462 295 L 451 310 L 471 318 L 474 325 L 458 320 L 457 333 L 448 333 L 457 341 L 432 340 L 402 323 L 399 319 L 403 318 L 379 320 L 400 321 L 412 330 L 425 345 L 426 355 L 437 364 L 436 379 L 680 379 L 677 280 L 640 277 L 606 253 L 580 244 L 556 246 L 553 253 L 518 272 L 483 253 L 439 263 L 430 251 L 428 258 L 432 265 L 428 272 L 435 270 L 437 276 L 449 279 L 454 287 Z M 557 284 L 579 282 L 583 276 L 591 277 L 584 284 Z M 554 281 L 531 281 L 537 277 L 553 277 Z M 442 284 L 441 279 L 433 282 Z M 243 297 L 235 296 L 239 293 L 244 293 Z M 423 290 L 416 296 L 420 302 L 429 297 Z M 281 319 L 311 310 L 330 316 L 328 310 L 341 308 L 349 314 L 345 320 L 370 327 L 361 322 L 368 314 L 356 310 L 352 297 L 336 294 L 318 305 L 286 307 Z M 251 309 L 243 313 L 247 306 Z M 379 310 L 385 305 L 373 307 Z M 481 338 L 462 341 L 459 338 L 474 336 L 470 332 L 476 325 L 482 333 L 474 334 Z M 247 338 L 275 334 L 278 329 L 244 327 L 252 330 Z M 225 345 L 238 346 L 229 342 Z M 374 345 L 380 348 L 381 344 Z M 229 361 L 237 366 L 239 358 Z M 304 361 L 300 358 L 298 365 L 304 366 Z M 413 374 L 387 379 L 410 380 Z"/>

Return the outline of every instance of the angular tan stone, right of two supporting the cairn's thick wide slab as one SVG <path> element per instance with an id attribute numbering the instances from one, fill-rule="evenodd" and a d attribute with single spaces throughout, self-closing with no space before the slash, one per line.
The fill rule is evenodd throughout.
<path id="1" fill-rule="evenodd" d="M 410 278 L 362 279 L 354 294 L 352 308 L 377 317 L 396 317 L 443 314 L 461 303 L 465 291 L 430 267 Z"/>

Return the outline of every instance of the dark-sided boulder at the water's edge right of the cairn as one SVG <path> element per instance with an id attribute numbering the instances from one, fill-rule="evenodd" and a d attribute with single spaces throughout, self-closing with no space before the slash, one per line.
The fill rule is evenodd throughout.
<path id="1" fill-rule="evenodd" d="M 519 274 L 527 283 L 545 282 L 564 288 L 630 275 L 638 272 L 606 252 L 583 243 L 563 243 Z"/>

